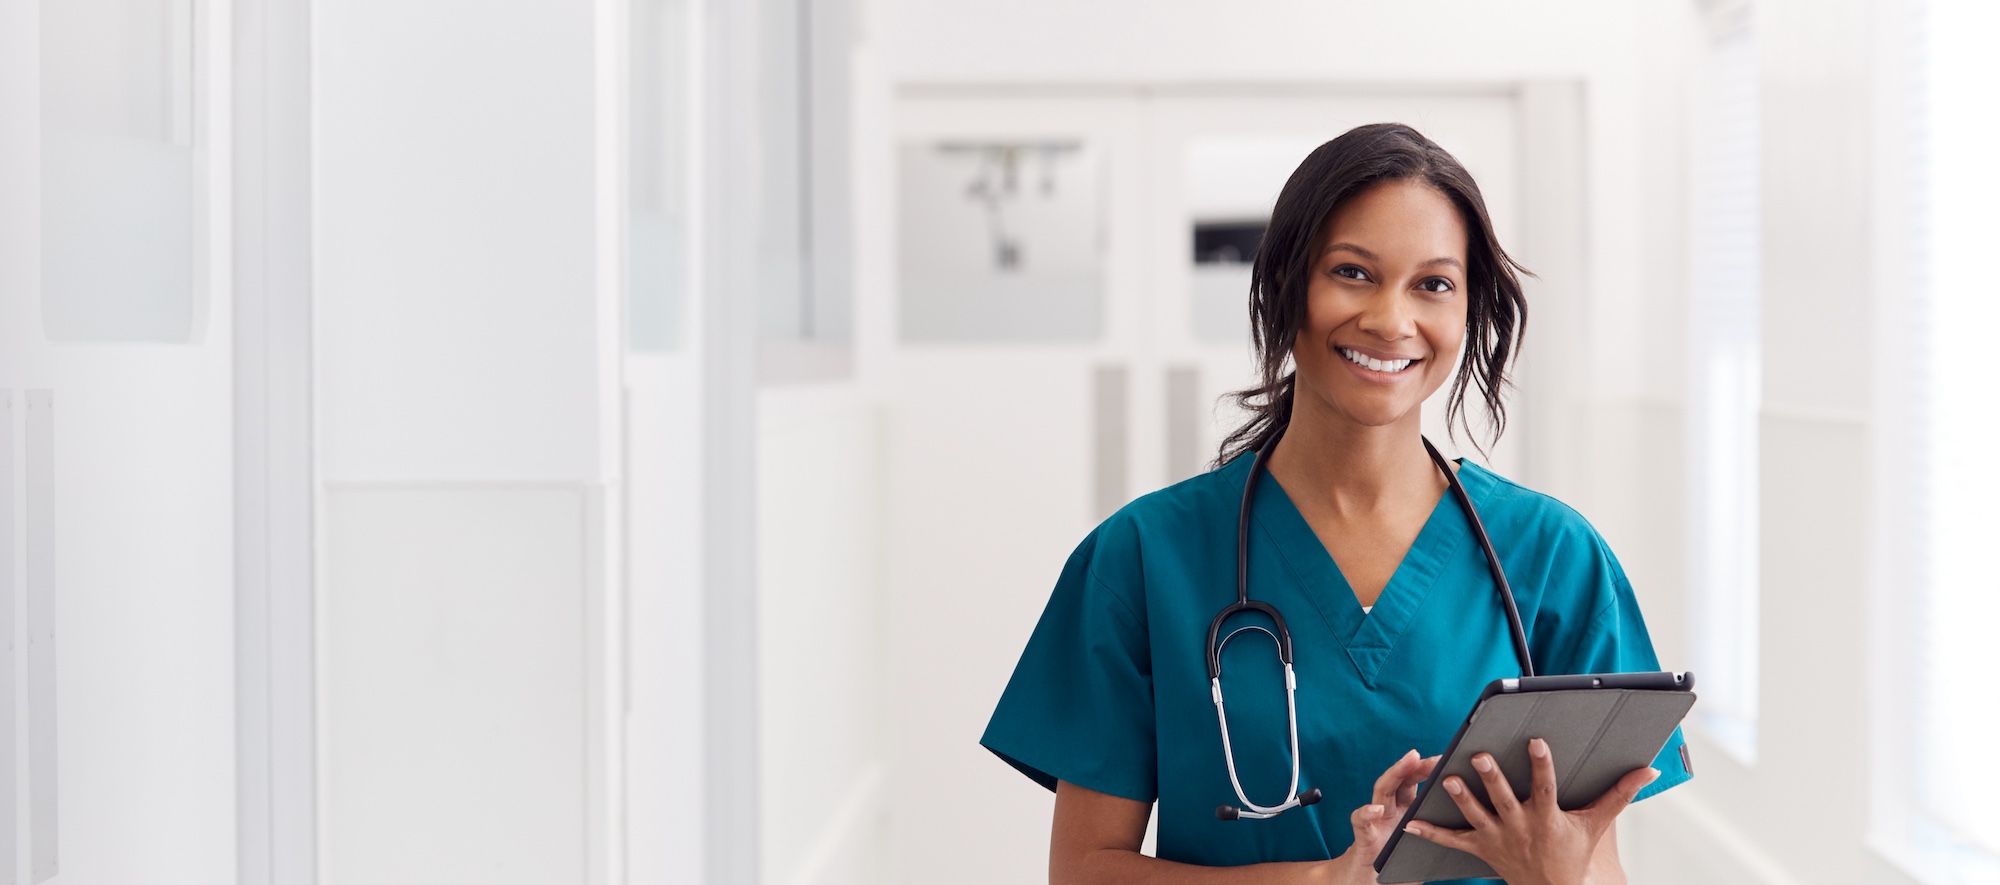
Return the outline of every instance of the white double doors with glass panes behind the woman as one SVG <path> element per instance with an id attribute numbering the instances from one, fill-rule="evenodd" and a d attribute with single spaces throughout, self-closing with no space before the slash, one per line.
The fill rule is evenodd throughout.
<path id="1" fill-rule="evenodd" d="M 1046 875 L 1048 793 L 976 741 L 1076 543 L 1198 471 L 1234 426 L 1218 398 L 1254 374 L 1248 318 L 1224 308 L 1238 326 L 1218 334 L 1214 298 L 1196 300 L 1192 222 L 1268 214 L 1312 146 L 1406 120 L 1466 162 L 1506 238 L 1516 116 L 1506 90 L 902 94 L 898 334 L 880 356 L 902 881 L 944 867 L 970 883 Z M 1426 432 L 1444 449 L 1438 418 L 1432 402 Z M 1494 451 L 1502 473 L 1516 447 Z M 940 801 L 948 813 L 930 811 Z"/>

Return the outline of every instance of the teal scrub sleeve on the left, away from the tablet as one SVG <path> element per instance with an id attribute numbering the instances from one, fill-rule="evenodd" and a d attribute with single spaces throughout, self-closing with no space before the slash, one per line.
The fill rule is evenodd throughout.
<path id="1" fill-rule="evenodd" d="M 1152 659 L 1142 609 L 1116 593 L 1136 569 L 1094 531 L 1062 569 L 980 745 L 1042 787 L 1070 781 L 1154 801 Z"/>

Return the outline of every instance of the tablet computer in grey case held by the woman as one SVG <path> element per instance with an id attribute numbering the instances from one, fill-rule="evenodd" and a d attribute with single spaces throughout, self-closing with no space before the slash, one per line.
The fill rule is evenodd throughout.
<path id="1" fill-rule="evenodd" d="M 1478 857 L 1402 831 L 1410 821 L 1466 829 L 1466 815 L 1438 781 L 1458 775 L 1486 803 L 1486 781 L 1472 757 L 1492 753 L 1518 799 L 1528 799 L 1532 769 L 1528 739 L 1548 741 L 1556 761 L 1556 805 L 1574 811 L 1596 801 L 1632 769 L 1652 765 L 1694 707 L 1694 673 L 1596 673 L 1576 677 L 1494 679 L 1466 715 L 1436 773 L 1416 791 L 1396 823 L 1376 873 L 1382 881 L 1482 879 L 1492 867 Z"/>

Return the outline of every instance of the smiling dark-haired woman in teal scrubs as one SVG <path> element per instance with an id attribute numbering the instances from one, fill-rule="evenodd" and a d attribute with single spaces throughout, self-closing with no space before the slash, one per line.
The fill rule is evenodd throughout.
<path id="1" fill-rule="evenodd" d="M 1262 384 L 1238 394 L 1252 418 L 1214 471 L 1126 505 L 1078 545 L 980 739 L 1056 791 L 1052 883 L 1376 881 L 1372 861 L 1432 753 L 1488 681 L 1520 675 L 1420 406 L 1462 352 L 1448 414 L 1464 424 L 1476 388 L 1498 436 L 1524 314 L 1516 264 L 1444 148 L 1374 124 L 1306 156 L 1252 268 Z M 1222 821 L 1216 807 L 1238 805 L 1238 791 L 1202 649 L 1234 601 L 1236 517 L 1264 447 L 1248 595 L 1286 615 L 1298 789 L 1324 799 Z M 1658 669 L 1618 559 L 1576 511 L 1476 463 L 1448 467 L 1484 519 L 1540 673 Z M 1284 671 L 1268 639 L 1226 645 L 1220 665 L 1242 795 L 1278 805 L 1292 781 Z M 1448 779 L 1472 829 L 1410 831 L 1514 885 L 1622 883 L 1612 823 L 1690 777 L 1680 747 L 1676 731 L 1658 771 L 1574 813 L 1540 795 L 1486 809 Z M 1550 771 L 1546 749 L 1530 753 Z M 1482 777 L 1512 797 L 1504 775 Z M 1154 801 L 1158 857 L 1144 857 Z"/>

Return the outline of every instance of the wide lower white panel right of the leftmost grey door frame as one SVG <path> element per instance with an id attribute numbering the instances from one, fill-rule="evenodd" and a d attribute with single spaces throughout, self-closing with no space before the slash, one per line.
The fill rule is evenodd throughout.
<path id="1" fill-rule="evenodd" d="M 584 881 L 588 501 L 328 489 L 326 885 Z"/>

